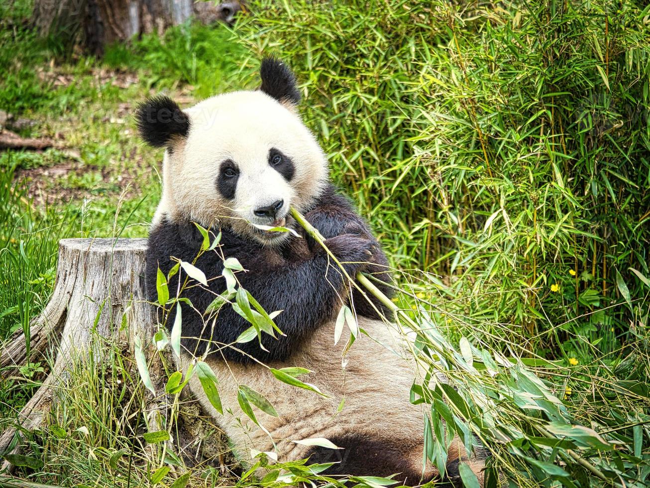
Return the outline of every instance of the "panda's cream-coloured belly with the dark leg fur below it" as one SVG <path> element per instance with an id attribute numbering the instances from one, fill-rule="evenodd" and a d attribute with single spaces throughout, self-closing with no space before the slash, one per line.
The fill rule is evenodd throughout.
<path id="1" fill-rule="evenodd" d="M 268 364 L 311 370 L 300 379 L 318 386 L 327 397 L 285 385 L 259 364 L 226 364 L 216 359 L 207 362 L 219 380 L 224 416 L 207 401 L 196 375 L 190 381 L 192 392 L 226 431 L 241 461 L 250 459 L 254 448 L 275 451 L 279 461 L 309 457 L 310 463 L 337 463 L 326 474 L 400 473 L 396 479 L 418 483 L 422 478 L 423 413 L 409 402 L 417 372 L 406 359 L 396 326 L 359 318 L 359 327 L 370 337 L 357 336 L 344 357 L 344 369 L 341 355 L 346 341 L 334 346 L 334 327 L 333 322 L 322 325 L 291 358 Z M 270 437 L 242 413 L 237 385 L 257 390 L 278 411 L 279 418 L 275 418 L 255 409 Z M 342 400 L 343 409 L 337 413 Z M 324 437 L 343 449 L 292 442 L 313 437 Z M 435 474 L 434 468 L 427 466 L 424 480 Z"/>

